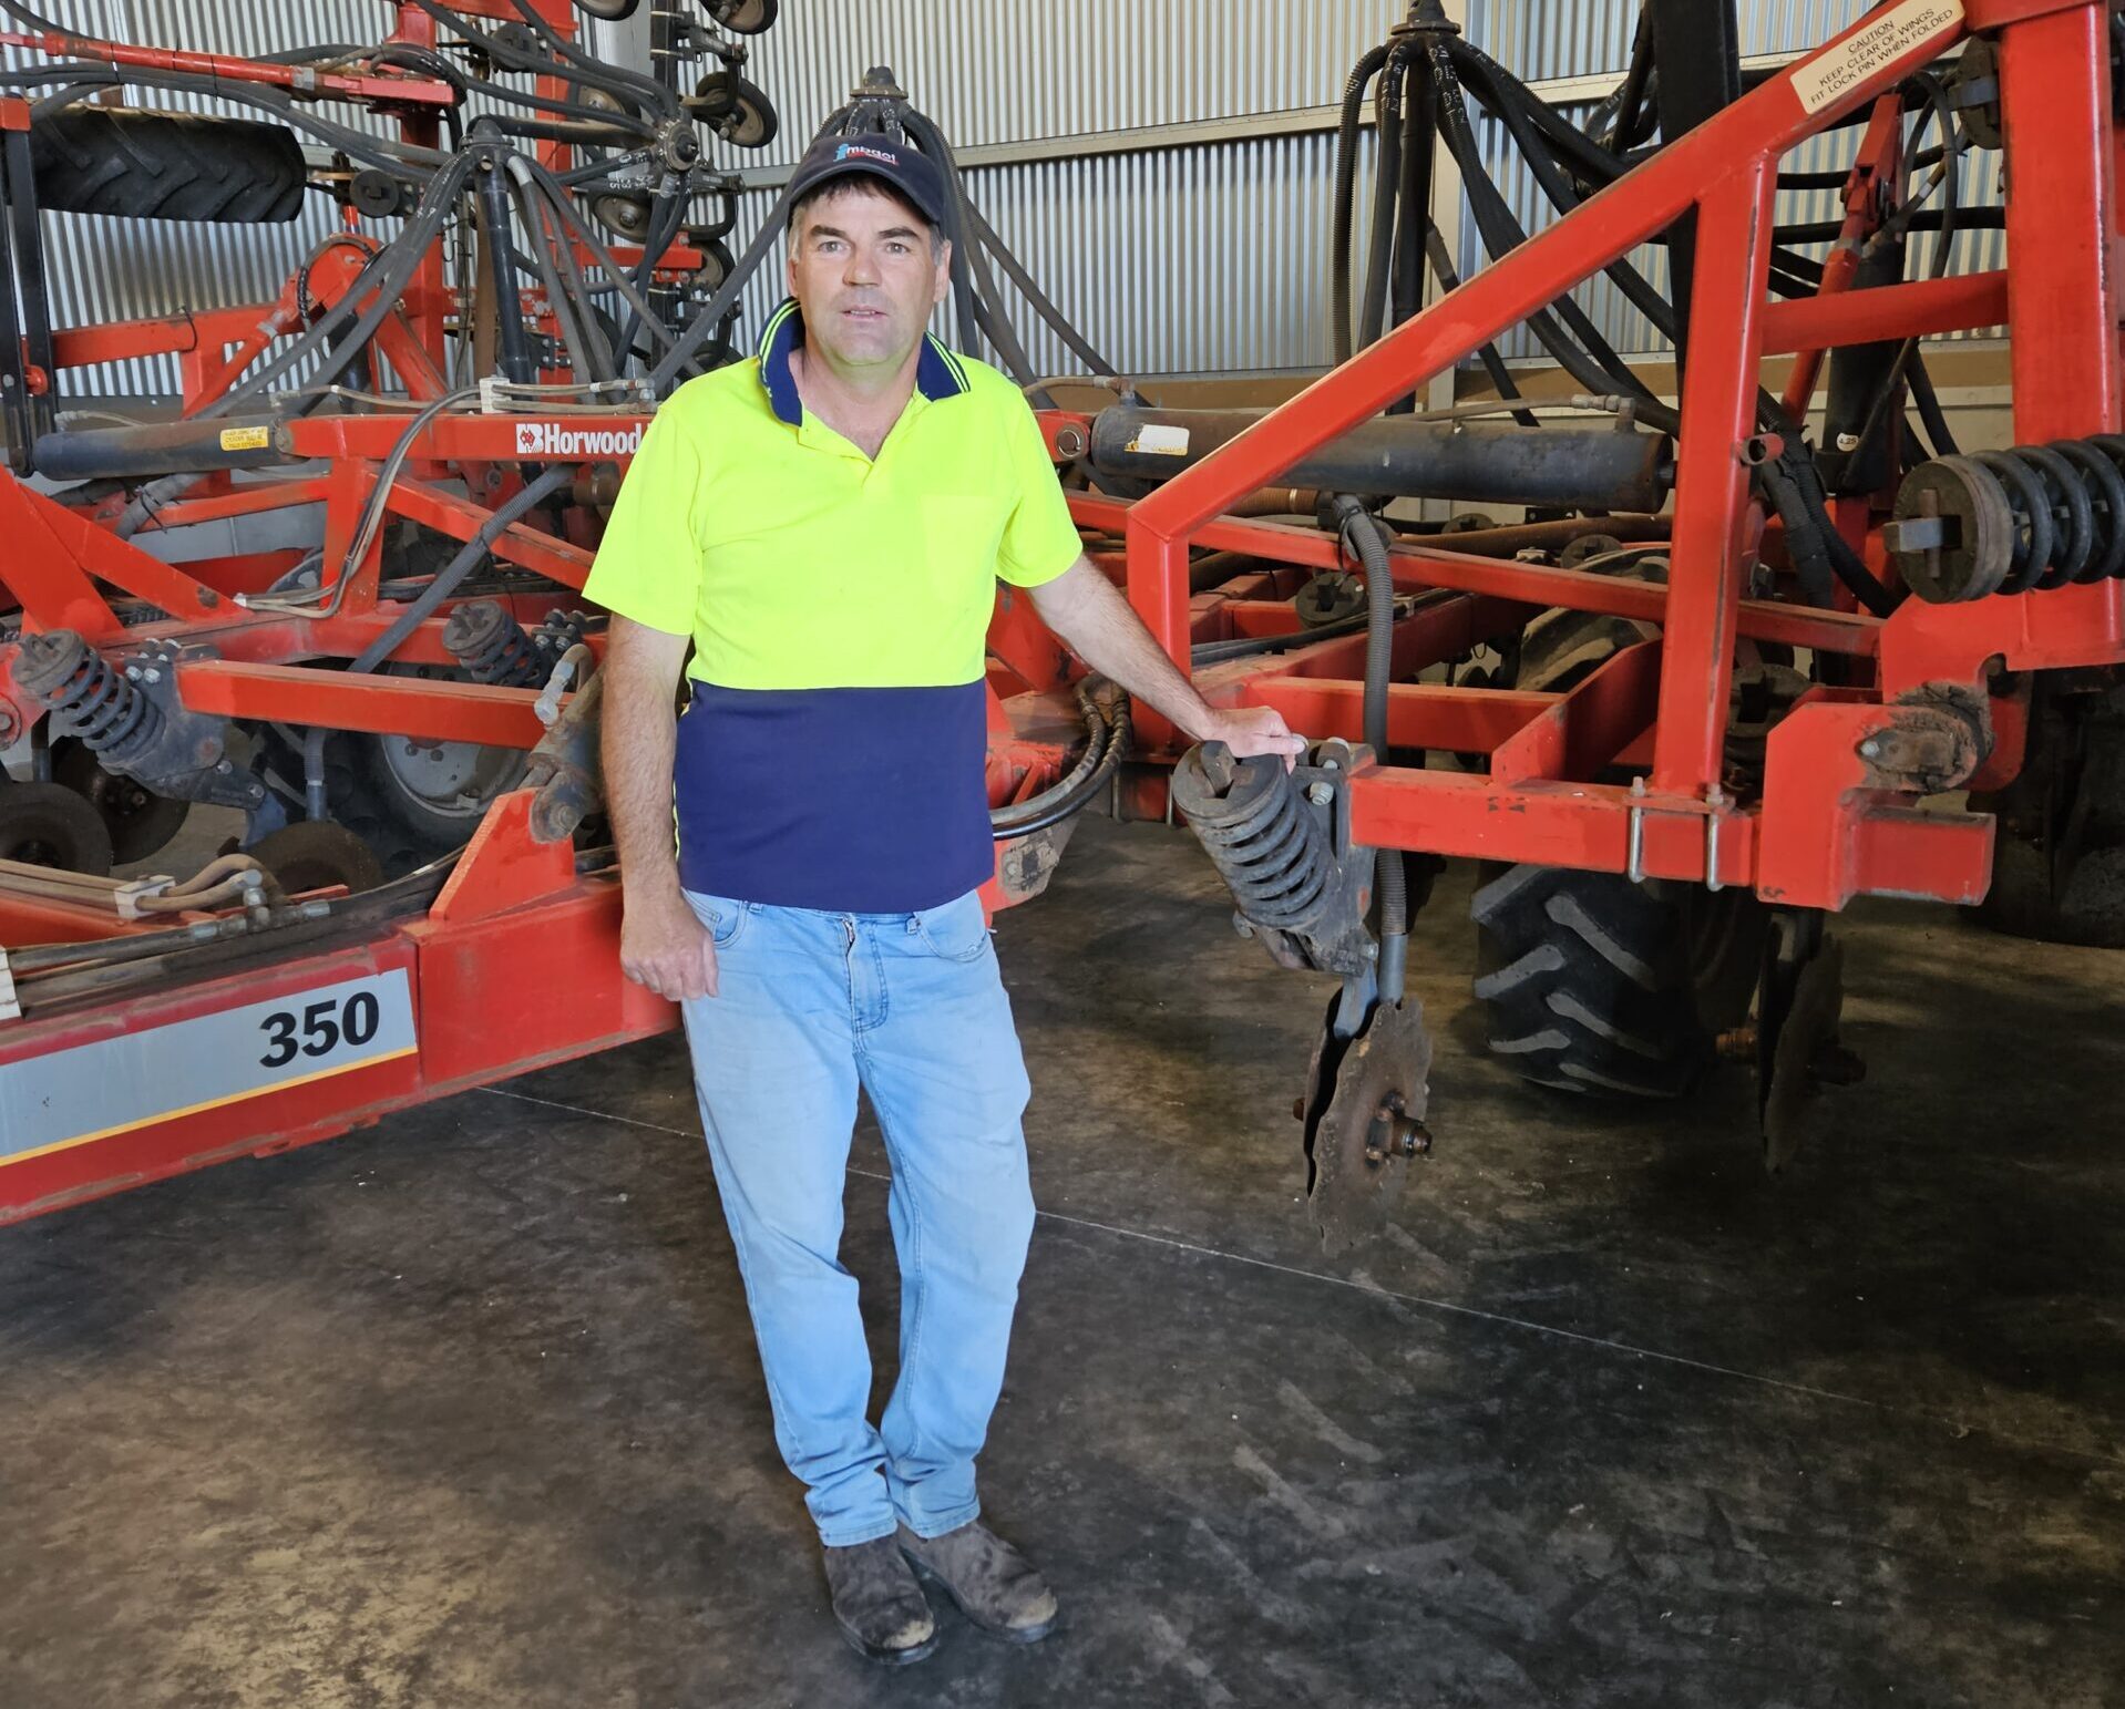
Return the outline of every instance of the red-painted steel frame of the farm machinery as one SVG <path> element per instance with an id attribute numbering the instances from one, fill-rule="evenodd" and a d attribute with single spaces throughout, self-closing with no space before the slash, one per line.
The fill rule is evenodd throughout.
<path id="1" fill-rule="evenodd" d="M 1900 23 L 1887 45 L 1883 19 Z M 2000 32 L 2002 106 L 2014 183 L 2040 185 L 2008 206 L 2012 274 L 1842 289 L 1832 266 L 1823 293 L 1766 302 L 1768 232 L 1779 157 L 1868 102 L 1878 102 L 1862 170 L 1883 157 L 1898 125 L 1893 96 L 1910 70 L 1968 32 Z M 1802 89 L 1834 91 L 1802 98 Z M 1570 570 L 1498 561 L 1405 542 L 1394 548 L 1398 589 L 1443 589 L 1396 629 L 1396 676 L 1460 657 L 1485 638 L 1515 631 L 1530 610 L 1575 608 L 1640 619 L 1660 640 L 1628 648 L 1562 695 L 1460 689 L 1398 680 L 1394 746 L 1488 757 L 1485 772 L 1430 772 L 1373 763 L 1352 780 L 1352 829 L 1360 842 L 1496 861 L 1575 865 L 1715 886 L 1753 886 L 1768 901 L 1842 908 L 1862 893 L 1976 901 L 1991 867 L 1991 820 L 1919 812 L 1915 774 L 1998 784 L 2021 761 L 2023 695 L 2012 676 L 2125 661 L 2125 587 L 2100 582 L 2046 593 L 1995 595 L 1966 606 L 1902 604 L 1889 619 L 1742 597 L 1745 572 L 1766 525 L 1749 497 L 1757 368 L 1772 353 L 1800 353 L 1789 402 L 1813 391 L 1819 357 L 1838 344 L 2006 323 L 2012 340 L 2014 429 L 2021 442 L 2116 432 L 2119 304 L 2114 176 L 2121 138 L 2112 123 L 2106 13 L 2095 0 L 1904 0 L 1760 85 L 1732 108 L 1664 149 L 1649 164 L 1560 219 L 1415 319 L 1390 332 L 1256 427 L 1135 504 L 1073 495 L 1088 531 L 1120 534 L 1122 553 L 1099 553 L 1160 644 L 1184 665 L 1192 642 L 1281 633 L 1298 627 L 1286 597 L 1290 576 L 1256 572 L 1190 595 L 1188 551 L 1243 551 L 1296 572 L 1343 568 L 1324 534 L 1222 514 L 1394 397 L 1594 276 L 1609 261 L 1685 215 L 1698 219 L 1694 315 L 1719 325 L 1717 342 L 1689 353 L 1681 400 L 1681 449 L 1666 587 Z M 1859 198 L 1853 200 L 1857 210 Z M 2085 210 L 2061 219 L 2059 210 Z M 1855 213 L 1855 219 L 1859 215 Z M 440 289 L 440 274 L 438 274 Z M 442 298 L 436 298 L 440 312 Z M 423 306 L 408 302 L 408 344 L 427 346 Z M 440 325 L 440 321 L 436 323 Z M 100 361 L 144 349 L 191 349 L 206 387 L 240 368 L 217 338 L 238 321 L 68 334 L 70 359 Z M 162 340 L 162 342 L 157 342 Z M 244 361 L 249 357 L 242 357 Z M 397 366 L 397 351 L 391 353 Z M 419 357 L 408 355 L 412 387 Z M 431 393 L 429 393 L 431 395 Z M 191 402 L 191 400 L 187 400 Z M 440 466 L 506 470 L 521 419 L 444 417 L 423 436 L 393 508 L 455 538 L 470 538 L 489 508 L 434 485 Z M 599 417 L 599 427 L 627 429 Z M 1046 417 L 1058 459 L 1084 446 L 1088 421 Z M 289 423 L 285 449 L 329 459 L 329 474 L 278 483 L 272 497 L 249 487 L 170 506 L 164 525 L 238 514 L 280 502 L 323 502 L 327 563 L 344 553 L 353 519 L 397 438 L 389 419 Z M 620 459 L 599 459 L 620 461 Z M 1840 514 L 1859 534 L 1866 517 Z M 363 678 L 334 680 L 300 661 L 344 657 L 380 631 L 374 557 L 359 565 L 338 614 L 268 619 L 227 610 L 236 591 L 170 570 L 119 542 L 98 519 L 0 480 L 0 527 L 32 540 L 8 561 L 6 580 L 32 627 L 76 627 L 113 657 L 144 636 L 206 642 L 219 657 L 181 665 L 183 699 L 202 712 L 404 731 L 446 740 L 529 744 L 538 738 L 531 691 Z M 1878 542 L 1868 546 L 1881 563 Z M 538 529 L 506 531 L 495 555 L 576 589 L 589 542 Z M 276 565 L 221 565 L 257 580 Z M 108 582 L 176 612 L 170 623 L 128 629 L 98 589 Z M 414 636 L 402 659 L 444 661 L 442 616 Z M 1760 801 L 1728 799 L 1721 750 L 1736 640 L 1755 638 L 1836 653 L 1853 661 L 1849 682 L 1819 687 L 1772 731 Z M 1073 665 L 1022 599 L 999 597 L 990 631 L 990 797 L 1031 793 L 1065 759 L 1058 695 Z M 1273 659 L 1205 670 L 1198 687 L 1222 704 L 1275 706 L 1313 738 L 1358 738 L 1362 638 L 1298 646 Z M 1955 742 L 1942 708 L 1959 708 Z M 0 655 L 0 727 L 28 716 L 8 697 Z M 1124 816 L 1169 816 L 1164 772 L 1173 731 L 1139 712 L 1141 748 L 1116 793 Z M 1923 765 L 1910 755 L 1930 757 Z M 1946 755 L 1946 759 L 1942 759 Z M 1904 757 L 1904 763 L 1900 763 Z M 1602 782 L 1628 761 L 1649 776 L 1636 789 Z M 1009 852 L 1009 850 L 1005 850 Z M 990 886 L 1007 906 L 1037 884 Z M 221 1156 L 327 1137 L 385 1110 L 497 1080 L 567 1054 L 672 1025 L 667 1005 L 623 986 L 612 940 L 616 886 L 578 878 L 565 844 L 529 835 L 523 795 L 499 801 L 450 891 L 429 916 L 397 925 L 357 948 L 276 963 L 280 991 L 308 991 L 363 965 L 416 971 L 421 1046 L 414 1056 L 291 1084 L 208 1112 L 172 1112 L 121 1135 L 89 1135 L 45 1156 L 0 1156 L 0 1222 L 200 1167 Z M 0 916 L 0 942 L 45 935 L 55 920 Z M 98 935 L 117 927 L 89 931 Z M 36 931 L 28 931 L 36 937 Z M 567 991 L 544 969 L 567 954 Z M 55 1014 L 0 1027 L 0 1067 L 74 1048 L 110 1029 L 166 1025 L 232 1005 L 255 982 L 215 980 L 113 1010 Z M 91 1144 L 94 1141 L 94 1144 Z"/>

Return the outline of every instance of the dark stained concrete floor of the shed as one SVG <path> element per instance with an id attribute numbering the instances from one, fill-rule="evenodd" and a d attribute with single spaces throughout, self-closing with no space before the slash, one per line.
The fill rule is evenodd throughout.
<path id="1" fill-rule="evenodd" d="M 2125 961 L 1862 910 L 1872 1073 L 1770 1184 L 1740 1080 L 1477 1054 L 1464 908 L 1439 1148 L 1339 1263 L 1324 993 L 1194 846 L 1088 825 L 1005 918 L 1046 1212 L 984 1488 L 1048 1643 L 842 1645 L 652 1042 L 0 1231 L 0 1705 L 2119 1703 Z"/>

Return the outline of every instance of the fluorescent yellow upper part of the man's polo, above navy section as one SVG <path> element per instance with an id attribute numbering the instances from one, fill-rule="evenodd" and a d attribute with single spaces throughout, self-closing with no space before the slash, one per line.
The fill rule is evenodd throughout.
<path id="1" fill-rule="evenodd" d="M 1039 423 L 992 368 L 918 389 L 878 459 L 810 412 L 782 421 L 759 361 L 682 385 L 620 487 L 586 585 L 691 633 L 729 689 L 980 680 L 997 578 L 1035 587 L 1080 553 Z"/>

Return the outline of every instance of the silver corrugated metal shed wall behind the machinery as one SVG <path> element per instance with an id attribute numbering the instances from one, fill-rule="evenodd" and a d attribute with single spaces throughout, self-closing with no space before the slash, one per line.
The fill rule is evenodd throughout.
<path id="1" fill-rule="evenodd" d="M 1862 9 L 1864 0 L 1742 0 L 1742 45 L 1747 53 L 1798 51 Z M 51 0 L 51 11 L 128 40 L 221 51 L 372 40 L 385 21 L 376 0 Z M 1402 0 L 1322 0 L 1303 11 L 1271 0 L 782 0 L 780 23 L 748 40 L 748 77 L 776 102 L 782 132 L 767 151 L 720 149 L 718 157 L 748 168 L 793 162 L 880 62 L 963 151 L 1294 111 L 1322 123 L 1352 62 L 1402 13 Z M 1634 17 L 1636 0 L 1470 0 L 1468 32 L 1522 77 L 1579 77 L 1621 70 Z M 629 28 L 625 40 L 640 43 L 640 30 Z M 1547 223 L 1551 210 L 1502 130 L 1483 125 L 1483 145 L 1522 221 Z M 1851 147 L 1851 134 L 1823 138 L 1794 164 L 1842 166 Z M 969 189 L 1033 276 L 1124 372 L 1303 370 L 1328 361 L 1332 155 L 1328 130 L 1300 128 L 975 164 Z M 1976 183 L 1966 185 L 1966 202 L 1998 202 L 2000 157 L 1972 162 Z M 1368 179 L 1366 159 L 1360 185 Z M 1360 189 L 1360 232 L 1364 200 Z M 310 202 L 295 227 L 264 230 L 47 217 L 57 312 L 85 323 L 268 298 L 334 223 L 323 198 Z M 744 198 L 733 247 L 752 236 L 769 202 L 769 189 Z M 1830 191 L 1787 196 L 1781 208 L 1800 219 L 1832 210 Z M 1961 251 L 1959 266 L 1998 264 L 2000 234 L 1970 234 Z M 1479 261 L 1473 234 L 1462 259 L 1464 270 Z M 1643 259 L 1664 283 L 1664 257 Z M 742 338 L 780 298 L 780 276 L 776 255 L 746 295 Z M 1617 349 L 1658 349 L 1604 281 L 1587 287 L 1585 302 Z M 1077 366 L 1060 340 L 1035 332 L 1031 315 L 1020 325 L 1035 366 Z M 1517 340 L 1509 353 L 1532 355 L 1534 346 Z M 172 363 L 134 361 L 76 376 L 70 393 L 172 387 Z"/>

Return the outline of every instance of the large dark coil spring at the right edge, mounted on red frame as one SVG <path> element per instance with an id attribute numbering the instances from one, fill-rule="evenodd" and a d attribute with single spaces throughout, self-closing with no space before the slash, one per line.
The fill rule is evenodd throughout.
<path id="1" fill-rule="evenodd" d="M 1898 523 L 1940 519 L 1898 570 L 1936 604 L 2125 576 L 2125 438 L 1936 457 L 1896 497 Z"/>

